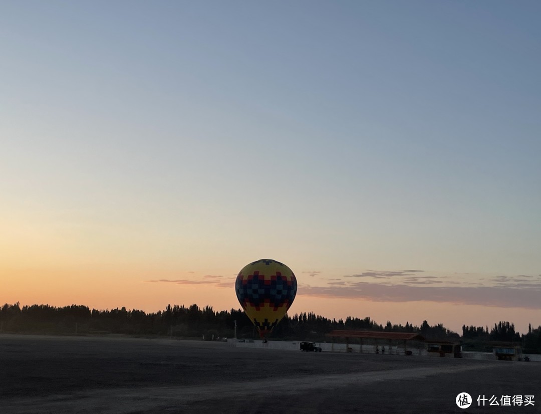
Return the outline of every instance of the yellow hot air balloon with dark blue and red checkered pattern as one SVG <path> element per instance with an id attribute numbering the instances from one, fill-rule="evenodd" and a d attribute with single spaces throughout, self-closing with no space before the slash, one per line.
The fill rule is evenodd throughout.
<path id="1" fill-rule="evenodd" d="M 235 281 L 235 290 L 248 318 L 264 338 L 293 303 L 297 279 L 283 263 L 261 259 L 242 268 Z"/>

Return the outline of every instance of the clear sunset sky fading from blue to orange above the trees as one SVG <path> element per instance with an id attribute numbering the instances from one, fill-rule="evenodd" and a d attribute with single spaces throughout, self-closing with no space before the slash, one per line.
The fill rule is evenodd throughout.
<path id="1" fill-rule="evenodd" d="M 0 304 L 541 325 L 538 1 L 0 3 Z"/>

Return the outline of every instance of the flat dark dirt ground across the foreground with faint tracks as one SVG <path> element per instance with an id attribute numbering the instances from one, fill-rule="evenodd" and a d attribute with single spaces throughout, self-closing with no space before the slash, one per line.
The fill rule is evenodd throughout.
<path id="1" fill-rule="evenodd" d="M 455 402 L 462 392 L 467 409 Z M 535 403 L 483 407 L 479 395 Z M 21 412 L 532 413 L 541 364 L 2 334 L 0 413 Z"/>

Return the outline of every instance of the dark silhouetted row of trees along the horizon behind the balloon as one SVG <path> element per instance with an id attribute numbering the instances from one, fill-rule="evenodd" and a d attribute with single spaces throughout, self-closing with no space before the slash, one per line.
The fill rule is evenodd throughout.
<path id="1" fill-rule="evenodd" d="M 236 324 L 236 331 L 235 331 Z M 325 333 L 332 330 L 367 330 L 381 332 L 411 332 L 432 340 L 461 341 L 472 350 L 480 350 L 483 344 L 510 342 L 521 344 L 524 352 L 541 353 L 541 326 L 528 333 L 520 334 L 514 324 L 500 321 L 489 327 L 462 327 L 462 336 L 443 324 L 429 325 L 423 321 L 420 326 L 406 322 L 406 325 L 380 325 L 370 318 L 328 319 L 312 312 L 286 316 L 272 332 L 269 339 L 303 339 L 325 341 Z M 106 334 L 120 333 L 140 336 L 171 336 L 184 338 L 256 338 L 257 332 L 252 321 L 241 309 L 230 311 L 213 310 L 212 306 L 200 308 L 168 305 L 165 310 L 146 313 L 141 310 L 127 310 L 126 307 L 111 310 L 96 310 L 83 305 L 55 307 L 50 305 L 4 304 L 0 309 L 0 331 L 9 333 L 48 334 Z"/>

